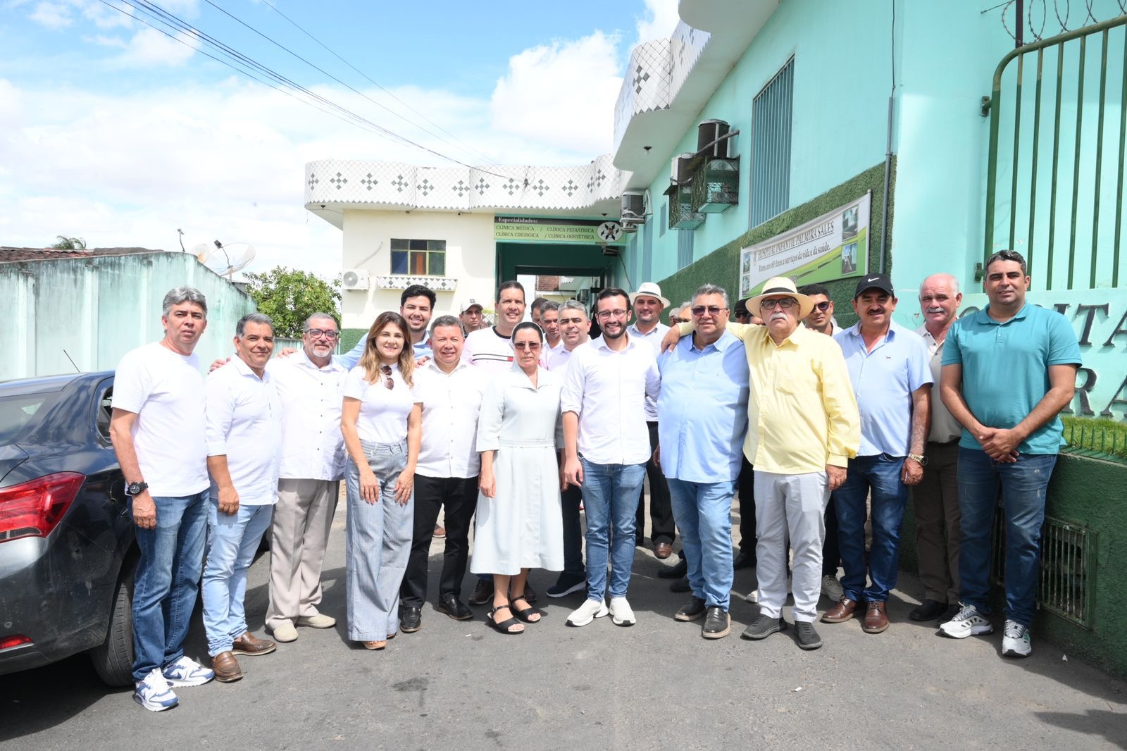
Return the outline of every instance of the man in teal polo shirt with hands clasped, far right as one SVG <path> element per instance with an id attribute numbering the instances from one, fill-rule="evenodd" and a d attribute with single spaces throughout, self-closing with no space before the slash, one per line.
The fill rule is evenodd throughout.
<path id="1" fill-rule="evenodd" d="M 1058 312 L 1026 303 L 1020 253 L 986 262 L 990 304 L 947 335 L 940 394 L 962 425 L 959 439 L 961 608 L 940 626 L 955 638 L 994 630 L 990 621 L 991 528 L 999 487 L 1005 514 L 1005 633 L 1002 654 L 1032 651 L 1045 492 L 1061 449 L 1061 410 L 1072 400 L 1080 344 Z"/>

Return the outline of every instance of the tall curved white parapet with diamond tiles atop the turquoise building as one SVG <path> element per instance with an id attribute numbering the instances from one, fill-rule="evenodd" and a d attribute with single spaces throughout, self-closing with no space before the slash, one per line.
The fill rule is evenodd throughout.
<path id="1" fill-rule="evenodd" d="M 614 105 L 615 151 L 635 115 L 669 107 L 710 38 L 708 32 L 681 21 L 671 38 L 633 48 Z"/>

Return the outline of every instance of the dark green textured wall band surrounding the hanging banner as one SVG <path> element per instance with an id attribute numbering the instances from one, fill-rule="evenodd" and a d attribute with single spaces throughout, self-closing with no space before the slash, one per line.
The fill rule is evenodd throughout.
<path id="1" fill-rule="evenodd" d="M 875 165 L 841 185 L 837 185 L 822 195 L 807 201 L 800 206 L 775 217 L 774 219 L 760 224 L 753 230 L 744 232 L 735 240 L 721 246 L 707 256 L 695 260 L 689 266 L 671 276 L 663 279 L 662 293 L 675 303 L 692 298 L 693 292 L 701 284 L 709 282 L 719 284 L 728 290 L 729 294 L 735 294 L 738 289 L 739 249 L 749 245 L 761 242 L 774 237 L 780 232 L 793 229 L 799 224 L 819 217 L 831 209 L 840 206 L 859 196 L 867 191 L 872 191 L 872 213 L 869 220 L 871 230 L 869 239 L 869 268 L 876 271 L 880 257 L 880 217 L 884 202 L 885 188 L 885 165 Z M 893 200 L 888 205 L 888 230 L 891 232 L 893 218 L 895 212 L 893 206 L 896 196 L 896 160 L 893 160 L 893 171 L 889 182 L 889 194 Z M 672 230 L 674 232 L 681 230 Z M 890 266 L 889 266 L 890 268 Z M 829 288 L 829 295 L 834 300 L 834 315 L 837 323 L 848 326 L 857 320 L 850 300 L 857 286 L 857 280 L 841 280 L 826 284 Z M 735 301 L 733 301 L 735 302 Z"/>

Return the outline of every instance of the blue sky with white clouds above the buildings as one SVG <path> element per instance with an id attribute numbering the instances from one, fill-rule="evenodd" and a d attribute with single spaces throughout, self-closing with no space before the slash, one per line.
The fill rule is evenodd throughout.
<path id="1" fill-rule="evenodd" d="M 307 161 L 449 164 L 251 80 L 130 5 L 470 164 L 610 151 L 630 50 L 677 21 L 676 0 L 0 0 L 0 245 L 171 249 L 181 228 L 188 247 L 254 244 L 248 271 L 331 274 L 340 235 L 302 206 Z"/>

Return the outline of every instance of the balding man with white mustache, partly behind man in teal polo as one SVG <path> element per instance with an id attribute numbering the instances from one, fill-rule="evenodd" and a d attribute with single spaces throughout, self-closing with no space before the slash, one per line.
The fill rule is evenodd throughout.
<path id="1" fill-rule="evenodd" d="M 962 293 L 950 274 L 932 274 L 920 285 L 923 337 L 931 355 L 931 377 L 939 383 L 943 345 L 959 312 Z M 931 399 L 931 430 L 923 479 L 912 492 L 916 520 L 916 559 L 924 600 L 908 613 L 912 620 L 947 620 L 959 602 L 959 436 L 962 426 L 938 395 Z"/>

